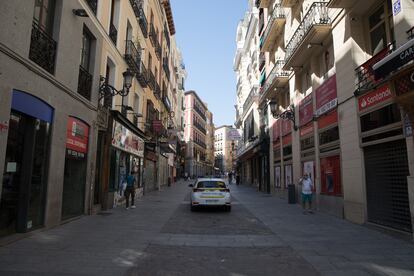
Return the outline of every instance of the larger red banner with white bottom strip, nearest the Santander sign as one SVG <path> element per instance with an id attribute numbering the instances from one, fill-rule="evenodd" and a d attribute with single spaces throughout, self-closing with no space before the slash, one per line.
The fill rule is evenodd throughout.
<path id="1" fill-rule="evenodd" d="M 338 105 L 336 91 L 336 75 L 333 75 L 321 84 L 315 91 L 316 116 L 321 116 L 334 109 Z"/>

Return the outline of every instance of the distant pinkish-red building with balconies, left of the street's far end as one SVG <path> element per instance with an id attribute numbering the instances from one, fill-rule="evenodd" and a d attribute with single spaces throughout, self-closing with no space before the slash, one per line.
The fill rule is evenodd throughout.
<path id="1" fill-rule="evenodd" d="M 207 106 L 195 91 L 185 92 L 185 172 L 193 178 L 207 176 L 213 167 L 207 163 L 207 111 Z"/>

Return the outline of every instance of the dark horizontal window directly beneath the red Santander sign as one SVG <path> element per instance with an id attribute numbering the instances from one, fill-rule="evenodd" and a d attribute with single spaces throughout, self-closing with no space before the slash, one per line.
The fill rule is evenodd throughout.
<path id="1" fill-rule="evenodd" d="M 401 113 L 397 104 L 387 105 L 361 116 L 361 132 L 370 131 L 401 121 Z"/>

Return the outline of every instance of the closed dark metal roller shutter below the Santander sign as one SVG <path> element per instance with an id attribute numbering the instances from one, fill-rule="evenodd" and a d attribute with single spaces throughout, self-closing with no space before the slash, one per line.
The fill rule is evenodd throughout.
<path id="1" fill-rule="evenodd" d="M 368 221 L 411 232 L 405 141 L 369 146 L 364 154 Z"/>

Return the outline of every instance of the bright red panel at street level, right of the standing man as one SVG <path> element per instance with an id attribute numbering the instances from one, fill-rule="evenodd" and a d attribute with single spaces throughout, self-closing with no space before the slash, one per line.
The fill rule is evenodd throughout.
<path id="1" fill-rule="evenodd" d="M 321 194 L 341 196 L 341 168 L 339 156 L 321 158 Z"/>

